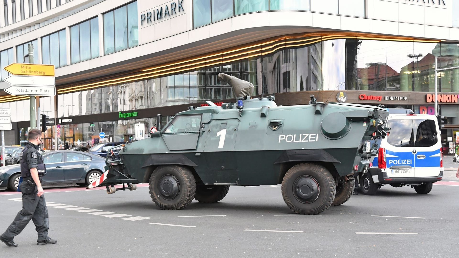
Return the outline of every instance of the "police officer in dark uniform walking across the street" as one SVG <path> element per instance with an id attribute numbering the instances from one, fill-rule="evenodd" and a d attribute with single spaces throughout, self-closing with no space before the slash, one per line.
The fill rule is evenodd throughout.
<path id="1" fill-rule="evenodd" d="M 46 174 L 46 168 L 43 157 L 38 151 L 41 143 L 41 131 L 39 129 L 28 131 L 28 142 L 22 151 L 20 161 L 22 183 L 19 188 L 22 192 L 22 210 L 17 213 L 14 221 L 0 236 L 0 241 L 8 247 L 17 247 L 13 238 L 22 232 L 30 219 L 34 222 L 35 230 L 38 233 L 37 245 L 57 243 L 57 240 L 48 236 L 48 208 L 46 208 L 43 187 L 41 186 L 41 179 Z"/>

